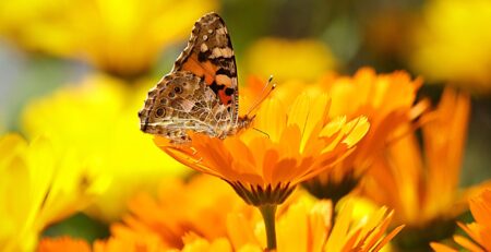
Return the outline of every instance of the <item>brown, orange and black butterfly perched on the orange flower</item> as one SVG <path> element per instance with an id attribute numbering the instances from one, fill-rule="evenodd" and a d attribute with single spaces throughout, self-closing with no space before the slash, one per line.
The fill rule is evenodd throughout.
<path id="1" fill-rule="evenodd" d="M 172 70 L 148 92 L 139 111 L 141 130 L 171 143 L 189 142 L 189 131 L 225 139 L 248 128 L 239 117 L 239 86 L 230 36 L 216 13 L 202 16 Z"/>

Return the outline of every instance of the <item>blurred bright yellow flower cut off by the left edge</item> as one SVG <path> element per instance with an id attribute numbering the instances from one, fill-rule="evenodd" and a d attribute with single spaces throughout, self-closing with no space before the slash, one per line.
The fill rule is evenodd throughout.
<path id="1" fill-rule="evenodd" d="M 32 251 L 43 229 L 107 188 L 70 146 L 47 137 L 0 137 L 0 250 Z"/>

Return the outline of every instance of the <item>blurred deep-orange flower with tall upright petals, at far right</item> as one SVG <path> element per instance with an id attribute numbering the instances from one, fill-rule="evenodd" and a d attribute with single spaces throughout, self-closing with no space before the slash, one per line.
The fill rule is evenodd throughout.
<path id="1" fill-rule="evenodd" d="M 428 247 L 451 235 L 465 211 L 458 179 L 469 109 L 469 96 L 446 88 L 438 108 L 421 118 L 424 153 L 416 135 L 407 134 L 368 172 L 366 193 L 395 209 L 395 224 L 408 225 L 398 237 L 402 245 Z"/>

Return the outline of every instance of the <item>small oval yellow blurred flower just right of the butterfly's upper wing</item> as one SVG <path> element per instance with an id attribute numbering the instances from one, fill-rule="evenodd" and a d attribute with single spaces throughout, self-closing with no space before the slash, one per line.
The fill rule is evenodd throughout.
<path id="1" fill-rule="evenodd" d="M 330 48 L 320 40 L 262 38 L 247 52 L 246 69 L 261 76 L 274 75 L 275 81 L 315 80 L 335 68 Z"/>

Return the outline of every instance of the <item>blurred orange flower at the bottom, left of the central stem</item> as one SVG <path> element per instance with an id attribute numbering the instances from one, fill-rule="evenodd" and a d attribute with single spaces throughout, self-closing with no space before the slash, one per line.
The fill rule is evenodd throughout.
<path id="1" fill-rule="evenodd" d="M 193 248 L 203 249 L 208 240 L 224 240 L 227 236 L 227 214 L 224 213 L 252 214 L 252 208 L 237 197 L 230 187 L 206 175 L 192 177 L 187 183 L 166 179 L 156 199 L 148 193 L 137 194 L 129 202 L 129 208 L 122 223 L 111 226 L 111 237 L 93 244 L 94 252 L 179 250 L 184 242 L 197 239 L 193 233 L 199 233 L 204 242 L 196 241 L 199 244 Z M 63 239 L 45 240 L 53 244 L 46 252 L 59 251 L 57 248 L 61 249 L 64 242 Z M 209 242 L 212 248 L 213 244 Z"/>

